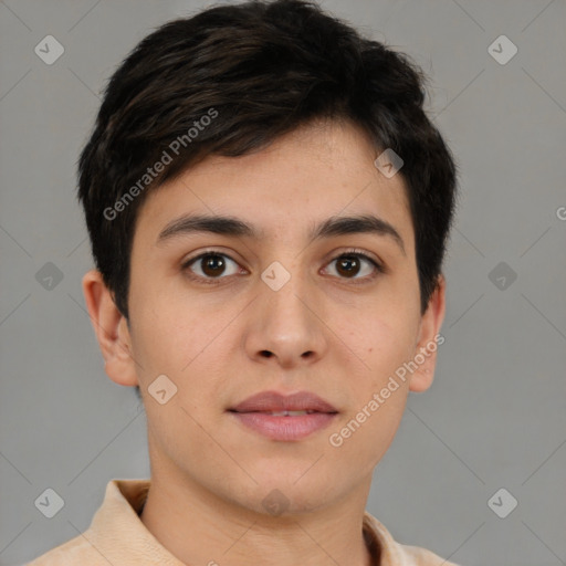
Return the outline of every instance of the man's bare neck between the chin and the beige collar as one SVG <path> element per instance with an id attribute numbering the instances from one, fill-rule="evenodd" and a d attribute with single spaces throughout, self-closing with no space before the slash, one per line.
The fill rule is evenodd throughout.
<path id="1" fill-rule="evenodd" d="M 249 566 L 254 557 L 266 566 L 376 566 L 361 530 L 369 483 L 334 505 L 273 516 L 186 478 L 164 480 L 151 475 L 140 520 L 184 564 Z"/>

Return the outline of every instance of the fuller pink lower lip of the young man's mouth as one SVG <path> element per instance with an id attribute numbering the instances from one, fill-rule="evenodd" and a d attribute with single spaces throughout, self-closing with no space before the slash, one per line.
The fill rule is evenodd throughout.
<path id="1" fill-rule="evenodd" d="M 274 417 L 265 412 L 233 412 L 245 427 L 272 440 L 301 440 L 327 427 L 336 413 L 312 412 L 294 417 Z"/>

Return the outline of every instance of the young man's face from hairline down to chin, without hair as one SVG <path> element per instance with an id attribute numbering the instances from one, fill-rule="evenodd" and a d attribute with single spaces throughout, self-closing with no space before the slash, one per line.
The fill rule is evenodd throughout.
<path id="1" fill-rule="evenodd" d="M 434 354 L 403 379 L 399 368 L 443 316 L 443 287 L 420 314 L 403 180 L 381 175 L 377 155 L 354 126 L 308 126 L 253 155 L 209 157 L 148 195 L 129 328 L 114 318 L 122 344 L 105 357 L 115 381 L 140 385 L 153 468 L 260 512 L 272 490 L 305 511 L 369 489 Z M 197 214 L 248 227 L 178 221 Z M 231 409 L 262 391 L 308 391 L 335 411 L 315 424 L 263 415 L 260 430 Z M 282 432 L 281 419 L 302 422 Z"/>

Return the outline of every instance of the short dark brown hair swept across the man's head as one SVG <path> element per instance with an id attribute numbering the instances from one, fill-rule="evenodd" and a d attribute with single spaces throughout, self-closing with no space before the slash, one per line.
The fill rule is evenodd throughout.
<path id="1" fill-rule="evenodd" d="M 146 36 L 111 77 L 78 163 L 93 255 L 116 307 L 129 319 L 130 250 L 149 191 L 208 155 L 260 150 L 329 118 L 359 126 L 378 151 L 403 160 L 423 313 L 457 176 L 423 111 L 424 81 L 407 55 L 303 0 L 216 6 Z"/>

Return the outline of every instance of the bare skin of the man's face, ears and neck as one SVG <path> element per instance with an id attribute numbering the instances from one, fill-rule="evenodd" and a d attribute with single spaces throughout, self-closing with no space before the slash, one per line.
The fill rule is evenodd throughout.
<path id="1" fill-rule="evenodd" d="M 441 276 L 421 316 L 403 180 L 381 175 L 377 155 L 355 126 L 327 123 L 296 129 L 252 155 L 208 157 L 140 208 L 129 325 L 101 274 L 93 270 L 83 279 L 108 377 L 139 385 L 144 397 L 151 488 L 142 521 L 186 564 L 248 566 L 254 556 L 270 566 L 370 565 L 361 521 L 373 471 L 409 390 L 431 385 L 436 354 L 339 448 L 328 437 L 433 343 L 446 290 Z M 234 216 L 264 235 L 200 232 L 156 244 L 184 212 Z M 392 224 L 405 253 L 392 238 L 375 233 L 308 242 L 314 223 L 355 213 Z M 190 269 L 181 269 L 209 248 L 233 260 L 224 258 L 218 284 L 193 281 Z M 352 248 L 387 272 L 365 260 L 349 276 L 339 271 L 335 259 Z M 276 292 L 261 279 L 273 261 L 291 274 Z M 206 277 L 210 271 L 197 261 L 192 273 Z M 147 391 L 163 374 L 178 388 L 165 405 Z M 313 391 L 339 413 L 303 440 L 271 440 L 227 412 L 264 390 Z M 277 516 L 262 505 L 275 489 L 289 502 Z"/>

